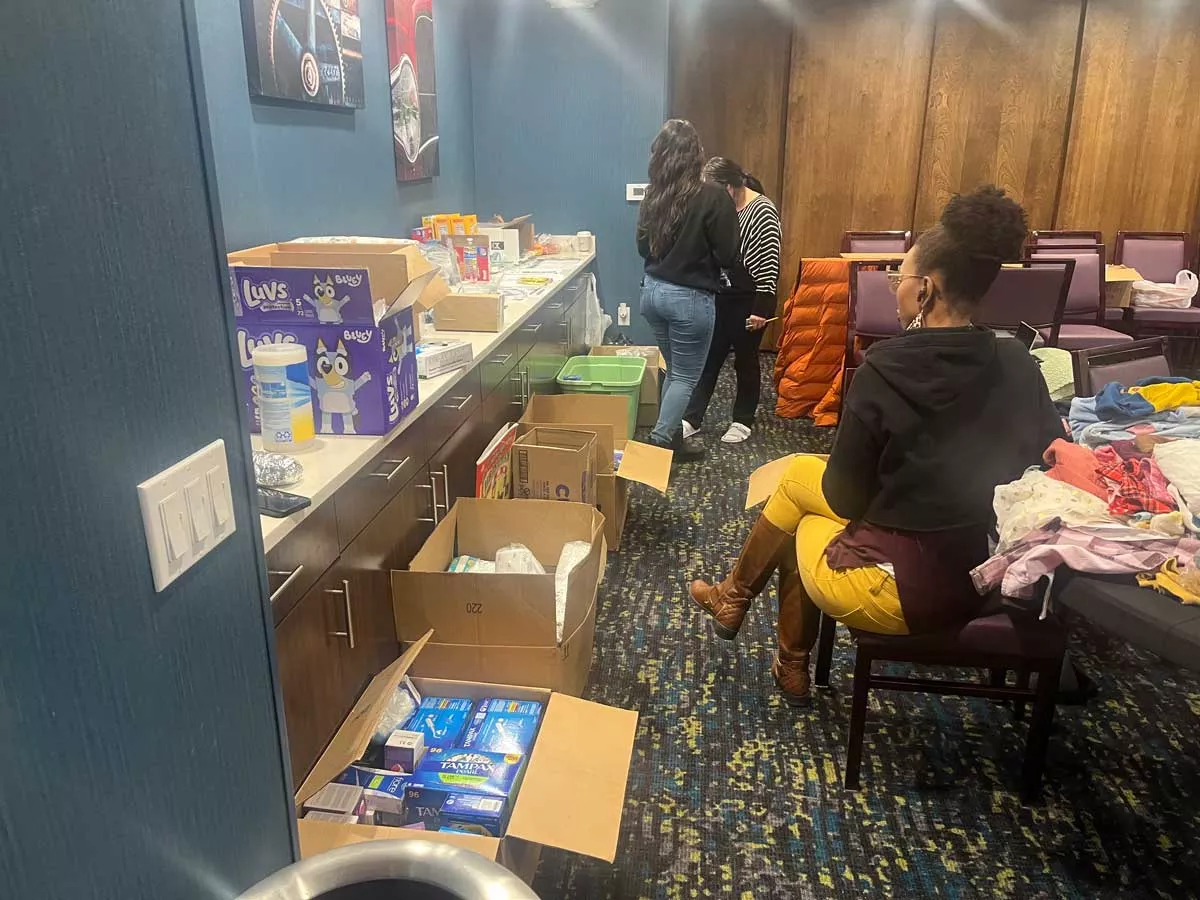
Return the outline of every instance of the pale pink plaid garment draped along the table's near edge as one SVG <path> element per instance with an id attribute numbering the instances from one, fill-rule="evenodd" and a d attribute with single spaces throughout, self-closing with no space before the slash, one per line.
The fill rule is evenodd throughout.
<path id="1" fill-rule="evenodd" d="M 998 586 L 1004 596 L 1027 600 L 1036 596 L 1038 581 L 1060 565 L 1093 575 L 1139 575 L 1176 559 L 1183 570 L 1195 571 L 1200 541 L 1192 538 L 1164 538 L 1133 528 L 1069 528 L 1056 520 L 972 570 L 971 578 L 980 594 Z"/>

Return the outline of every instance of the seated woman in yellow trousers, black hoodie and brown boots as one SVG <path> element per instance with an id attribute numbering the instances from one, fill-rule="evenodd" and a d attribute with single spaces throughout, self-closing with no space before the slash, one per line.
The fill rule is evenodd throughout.
<path id="1" fill-rule="evenodd" d="M 983 606 L 970 571 L 988 558 L 992 492 L 1063 434 L 1025 347 L 971 323 L 1025 235 L 1025 211 L 995 187 L 947 204 L 888 274 L 906 331 L 866 354 L 828 463 L 798 457 L 733 572 L 691 584 L 732 641 L 780 570 L 772 673 L 792 706 L 809 702 L 820 611 L 906 635 L 966 622 Z"/>

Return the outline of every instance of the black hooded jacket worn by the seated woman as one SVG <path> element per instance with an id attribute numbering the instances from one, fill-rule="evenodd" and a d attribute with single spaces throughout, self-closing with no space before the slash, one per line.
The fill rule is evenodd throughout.
<path id="1" fill-rule="evenodd" d="M 990 527 L 996 486 L 1064 436 L 1019 342 L 983 328 L 912 331 L 875 344 L 858 367 L 822 487 L 852 522 Z"/>

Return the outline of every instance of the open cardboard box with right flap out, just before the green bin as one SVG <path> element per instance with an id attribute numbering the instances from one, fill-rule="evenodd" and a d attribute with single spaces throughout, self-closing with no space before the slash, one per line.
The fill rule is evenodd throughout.
<path id="1" fill-rule="evenodd" d="M 606 394 L 536 394 L 529 398 L 518 431 L 538 426 L 569 426 L 595 433 L 596 505 L 605 516 L 605 538 L 620 547 L 629 512 L 629 482 L 636 481 L 666 493 L 671 481 L 670 450 L 629 439 L 629 402 Z M 613 470 L 613 451 L 624 456 Z"/>

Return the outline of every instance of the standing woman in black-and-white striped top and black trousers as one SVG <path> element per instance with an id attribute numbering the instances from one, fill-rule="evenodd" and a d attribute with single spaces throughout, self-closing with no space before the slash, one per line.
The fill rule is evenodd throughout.
<path id="1" fill-rule="evenodd" d="M 716 156 L 704 167 L 704 178 L 724 187 L 733 199 L 742 230 L 742 264 L 731 274 L 732 287 L 722 288 L 716 296 L 713 344 L 683 416 L 683 436 L 688 438 L 700 431 L 716 378 L 732 349 L 738 391 L 733 401 L 733 421 L 721 440 L 740 444 L 750 437 L 758 413 L 762 386 L 758 344 L 767 320 L 775 312 L 784 230 L 775 204 L 763 196 L 762 184 L 736 162 Z"/>

